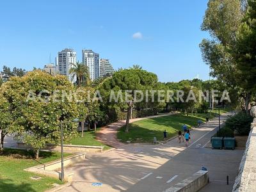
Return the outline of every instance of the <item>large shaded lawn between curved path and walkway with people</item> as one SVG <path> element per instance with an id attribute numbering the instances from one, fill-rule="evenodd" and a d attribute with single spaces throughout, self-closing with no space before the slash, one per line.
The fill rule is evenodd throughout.
<path id="1" fill-rule="evenodd" d="M 227 111 L 221 110 L 221 113 Z M 124 132 L 125 128 L 122 127 L 118 133 L 117 138 L 122 141 L 130 141 L 131 143 L 152 143 L 154 136 L 158 141 L 163 141 L 163 132 L 166 130 L 167 137 L 172 138 L 177 132 L 183 131 L 182 125 L 188 125 L 189 129 L 197 125 L 198 119 L 205 122 L 205 118 L 209 113 L 196 113 L 187 116 L 186 114 L 179 113 L 177 115 L 160 116 L 156 118 L 149 118 L 140 120 L 129 124 L 129 132 Z M 215 113 L 211 113 L 210 118 L 214 118 Z"/>

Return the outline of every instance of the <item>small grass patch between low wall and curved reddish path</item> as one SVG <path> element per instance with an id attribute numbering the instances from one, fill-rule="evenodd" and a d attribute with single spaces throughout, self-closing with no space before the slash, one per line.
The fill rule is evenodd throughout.
<path id="1" fill-rule="evenodd" d="M 99 130 L 99 129 L 98 129 Z M 95 131 L 84 131 L 83 138 L 81 137 L 81 132 L 79 132 L 76 138 L 73 138 L 69 143 L 72 145 L 94 145 L 94 146 L 103 146 L 104 150 L 108 150 L 110 147 L 100 143 L 96 140 Z"/>

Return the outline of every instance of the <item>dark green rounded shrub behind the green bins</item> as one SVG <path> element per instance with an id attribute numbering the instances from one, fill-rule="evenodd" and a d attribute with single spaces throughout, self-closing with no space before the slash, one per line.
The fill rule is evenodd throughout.
<path id="1" fill-rule="evenodd" d="M 247 113 L 237 113 L 227 119 L 225 127 L 236 131 L 239 135 L 248 135 L 251 129 L 253 117 Z"/>

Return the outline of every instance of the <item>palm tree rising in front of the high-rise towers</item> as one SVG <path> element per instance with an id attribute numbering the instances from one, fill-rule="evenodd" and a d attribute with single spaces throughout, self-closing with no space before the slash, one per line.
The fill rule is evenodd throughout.
<path id="1" fill-rule="evenodd" d="M 89 68 L 83 63 L 76 62 L 72 63 L 74 67 L 70 68 L 69 73 L 72 74 L 72 79 L 77 77 L 77 86 L 81 84 L 90 84 Z"/>

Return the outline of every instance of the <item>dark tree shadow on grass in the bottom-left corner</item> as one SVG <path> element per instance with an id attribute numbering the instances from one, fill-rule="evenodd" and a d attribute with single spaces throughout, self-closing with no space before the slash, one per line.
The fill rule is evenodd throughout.
<path id="1" fill-rule="evenodd" d="M 31 188 L 31 184 L 13 184 L 12 179 L 0 178 L 0 191 L 4 192 L 34 192 L 35 189 Z M 35 191 L 36 192 L 36 191 Z"/>

